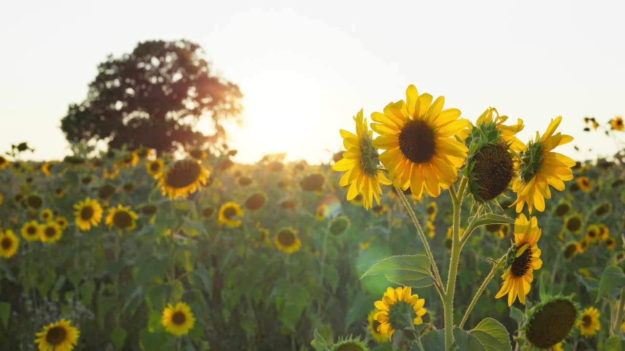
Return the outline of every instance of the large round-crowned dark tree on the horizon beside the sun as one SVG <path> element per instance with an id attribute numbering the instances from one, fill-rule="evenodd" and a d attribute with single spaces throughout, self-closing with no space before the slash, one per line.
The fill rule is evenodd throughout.
<path id="1" fill-rule="evenodd" d="M 157 152 L 224 139 L 222 121 L 239 122 L 239 87 L 212 74 L 193 42 L 140 42 L 120 58 L 98 65 L 86 99 L 61 120 L 68 141 L 107 141 L 109 148 L 146 146 Z M 214 134 L 196 131 L 211 117 Z"/>

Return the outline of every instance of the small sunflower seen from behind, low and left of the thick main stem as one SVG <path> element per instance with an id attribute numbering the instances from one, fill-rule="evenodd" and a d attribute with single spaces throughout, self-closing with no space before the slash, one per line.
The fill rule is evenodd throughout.
<path id="1" fill-rule="evenodd" d="M 382 300 L 374 303 L 380 310 L 373 316 L 380 324 L 377 331 L 390 340 L 395 330 L 422 324 L 421 317 L 427 312 L 423 308 L 425 302 L 425 299 L 419 299 L 419 295 L 412 295 L 411 287 L 387 288 Z"/>

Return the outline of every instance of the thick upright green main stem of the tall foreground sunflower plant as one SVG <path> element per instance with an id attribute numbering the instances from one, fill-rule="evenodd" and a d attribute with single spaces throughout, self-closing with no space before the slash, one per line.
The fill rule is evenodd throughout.
<path id="1" fill-rule="evenodd" d="M 449 260 L 449 275 L 447 275 L 447 289 L 443 299 L 443 310 L 445 320 L 445 350 L 451 349 L 454 343 L 454 290 L 456 290 L 456 275 L 458 273 L 458 261 L 460 260 L 460 208 L 464 198 L 464 189 L 469 179 L 462 177 L 457 194 L 454 188 L 449 188 L 452 202 L 454 204 L 454 226 L 451 245 L 451 259 Z"/>

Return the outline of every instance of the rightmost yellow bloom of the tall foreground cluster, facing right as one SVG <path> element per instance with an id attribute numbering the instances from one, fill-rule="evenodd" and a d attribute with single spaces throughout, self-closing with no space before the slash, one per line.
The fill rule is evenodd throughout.
<path id="1" fill-rule="evenodd" d="M 544 199 L 551 199 L 549 185 L 562 191 L 564 190 L 562 180 L 573 179 L 571 167 L 575 166 L 575 161 L 570 157 L 552 152 L 556 146 L 573 140 L 573 137 L 561 133 L 554 135 L 561 121 L 561 116 L 551 121 L 542 137 L 536 132 L 536 139 L 529 141 L 526 151 L 520 153 L 519 177 L 512 183 L 512 190 L 517 193 L 516 212 L 521 212 L 526 203 L 530 214 L 532 208 L 544 211 Z"/>

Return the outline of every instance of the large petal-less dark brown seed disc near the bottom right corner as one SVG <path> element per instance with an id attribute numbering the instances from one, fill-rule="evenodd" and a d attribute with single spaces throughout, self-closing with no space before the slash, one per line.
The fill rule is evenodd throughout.
<path id="1" fill-rule="evenodd" d="M 571 334 L 578 315 L 579 307 L 571 297 L 548 297 L 527 311 L 522 330 L 531 345 L 549 349 Z"/>

